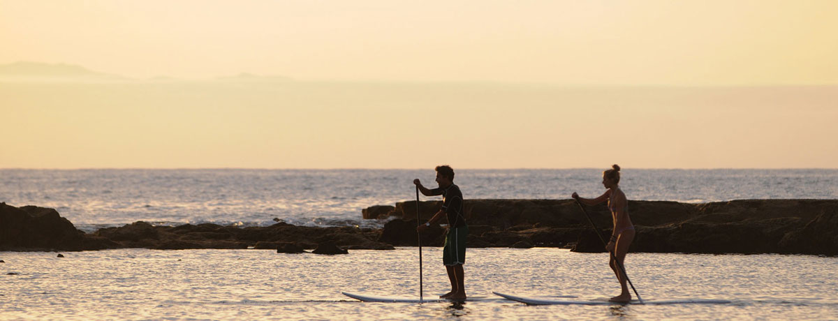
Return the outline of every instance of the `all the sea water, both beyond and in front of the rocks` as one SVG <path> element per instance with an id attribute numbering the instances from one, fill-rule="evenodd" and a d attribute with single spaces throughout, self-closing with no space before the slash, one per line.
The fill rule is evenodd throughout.
<path id="1" fill-rule="evenodd" d="M 427 170 L 0 170 L 0 201 L 51 207 L 82 230 L 146 220 L 380 226 L 360 210 L 415 197 Z M 603 192 L 600 169 L 458 170 L 466 199 L 567 199 Z M 834 169 L 623 169 L 629 199 L 838 199 Z M 426 199 L 423 197 L 423 199 Z M 434 199 L 434 198 L 428 198 Z M 526 306 L 521 296 L 608 298 L 608 255 L 559 248 L 468 250 L 466 289 L 479 301 L 360 303 L 341 291 L 418 296 L 419 249 L 348 255 L 270 250 L 0 251 L 0 319 L 835 319 L 838 257 L 629 253 L 646 301 L 730 303 Z M 426 298 L 447 292 L 441 247 L 423 247 Z"/>

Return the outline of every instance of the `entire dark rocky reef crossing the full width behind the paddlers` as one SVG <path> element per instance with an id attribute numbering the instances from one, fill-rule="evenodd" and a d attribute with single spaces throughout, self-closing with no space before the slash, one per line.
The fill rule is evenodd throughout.
<path id="1" fill-rule="evenodd" d="M 369 220 L 386 220 L 383 229 L 310 227 L 277 223 L 266 227 L 214 224 L 153 226 L 137 221 L 84 233 L 59 213 L 37 206 L 0 203 L 0 251 L 85 251 L 151 249 L 272 249 L 299 253 L 329 248 L 388 250 L 416 246 L 416 206 L 426 221 L 438 201 L 407 201 L 362 210 Z M 611 216 L 604 205 L 586 207 L 603 235 Z M 570 247 L 602 252 L 603 245 L 572 199 L 466 199 L 468 246 Z M 838 200 L 743 199 L 706 204 L 629 201 L 637 230 L 630 251 L 685 253 L 788 253 L 838 255 Z M 440 226 L 423 232 L 423 246 L 441 246 Z M 332 245 L 332 246 L 329 246 Z M 323 251 L 323 250 L 321 250 Z M 316 251 L 319 252 L 319 251 Z"/>

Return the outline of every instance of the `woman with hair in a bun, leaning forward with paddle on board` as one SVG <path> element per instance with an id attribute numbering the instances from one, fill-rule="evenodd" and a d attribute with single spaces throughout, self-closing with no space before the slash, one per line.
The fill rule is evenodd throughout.
<path id="1" fill-rule="evenodd" d="M 596 199 L 583 199 L 582 197 L 579 197 L 576 192 L 574 192 L 571 196 L 585 205 L 597 205 L 603 203 L 605 200 L 608 200 L 608 210 L 611 210 L 611 218 L 614 222 L 614 228 L 611 233 L 611 240 L 608 241 L 608 245 L 605 246 L 605 250 L 614 253 L 614 255 L 611 256 L 611 269 L 614 270 L 614 274 L 617 275 L 620 287 L 623 287 L 623 293 L 611 298 L 611 301 L 629 302 L 631 301 L 631 294 L 629 293 L 629 288 L 626 287 L 626 276 L 623 272 L 621 272 L 618 262 L 614 261 L 616 258 L 620 264 L 623 264 L 625 262 L 626 253 L 629 252 L 631 241 L 634 241 L 634 225 L 631 223 L 631 219 L 629 219 L 628 211 L 629 200 L 626 199 L 626 194 L 623 194 L 623 191 L 620 190 L 619 183 L 620 167 L 617 166 L 617 164 L 614 164 L 612 169 L 608 169 L 603 172 L 603 185 L 605 185 L 605 188 L 608 189 L 604 194 L 600 195 Z"/>

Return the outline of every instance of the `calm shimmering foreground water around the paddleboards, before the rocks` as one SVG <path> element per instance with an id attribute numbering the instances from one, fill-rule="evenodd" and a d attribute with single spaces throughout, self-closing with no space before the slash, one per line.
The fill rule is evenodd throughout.
<path id="1" fill-rule="evenodd" d="M 424 249 L 425 293 L 447 291 L 441 248 Z M 491 291 L 607 298 L 605 254 L 469 249 L 467 290 L 487 300 L 360 303 L 340 291 L 418 295 L 417 249 L 344 256 L 264 250 L 0 252 L 0 319 L 835 319 L 838 258 L 629 254 L 645 300 L 729 304 L 525 306 Z M 8 275 L 9 272 L 18 273 Z"/>

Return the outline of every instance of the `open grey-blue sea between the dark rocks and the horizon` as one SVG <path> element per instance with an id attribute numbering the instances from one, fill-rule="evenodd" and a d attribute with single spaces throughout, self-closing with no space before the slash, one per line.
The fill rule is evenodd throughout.
<path id="1" fill-rule="evenodd" d="M 371 205 L 415 197 L 427 170 L 0 169 L 0 201 L 51 207 L 82 230 L 146 220 L 380 226 L 361 220 Z M 457 170 L 466 199 L 567 199 L 603 193 L 601 169 Z M 838 199 L 838 169 L 623 169 L 630 199 Z M 427 198 L 423 198 L 427 199 Z M 431 198 L 438 199 L 438 198 Z"/>

